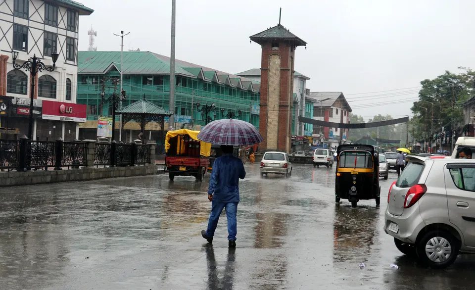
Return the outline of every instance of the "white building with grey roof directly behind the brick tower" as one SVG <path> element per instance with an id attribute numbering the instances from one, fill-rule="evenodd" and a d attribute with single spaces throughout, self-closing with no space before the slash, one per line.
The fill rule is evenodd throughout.
<path id="1" fill-rule="evenodd" d="M 253 68 L 250 70 L 246 70 L 236 74 L 240 77 L 245 77 L 247 79 L 251 79 L 253 81 L 261 81 L 261 69 L 260 68 Z M 295 114 L 294 114 L 294 128 L 293 132 L 294 135 L 297 136 L 304 136 L 305 129 L 304 123 L 298 122 L 298 116 L 304 116 L 305 112 L 305 99 L 308 97 L 308 93 L 310 90 L 306 89 L 307 80 L 310 80 L 309 77 L 304 76 L 299 72 L 294 72 L 293 74 L 293 101 L 298 103 L 298 106 L 295 106 Z M 298 126 L 300 124 L 300 126 Z"/>

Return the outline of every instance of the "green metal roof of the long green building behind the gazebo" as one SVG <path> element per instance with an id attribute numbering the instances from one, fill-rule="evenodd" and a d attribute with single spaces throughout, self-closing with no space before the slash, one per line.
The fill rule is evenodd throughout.
<path id="1" fill-rule="evenodd" d="M 79 51 L 78 53 L 78 74 L 105 74 L 111 68 L 121 69 L 120 51 Z M 170 74 L 170 57 L 153 53 L 150 51 L 124 51 L 122 65 L 123 74 L 136 75 L 168 75 Z M 241 76 L 229 74 L 216 69 L 197 65 L 176 59 L 175 74 L 190 78 L 201 77 L 207 81 L 229 82 L 230 79 L 239 78 L 242 81 L 251 81 Z M 258 83 L 252 81 L 252 83 Z"/>

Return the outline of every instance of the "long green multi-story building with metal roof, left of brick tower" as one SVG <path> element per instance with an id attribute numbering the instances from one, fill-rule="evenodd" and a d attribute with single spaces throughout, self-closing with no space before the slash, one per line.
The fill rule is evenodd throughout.
<path id="1" fill-rule="evenodd" d="M 195 130 L 205 125 L 206 116 L 196 106 L 214 104 L 215 111 L 209 115 L 212 120 L 222 119 L 223 114 L 234 113 L 238 119 L 259 127 L 260 83 L 248 78 L 219 70 L 176 60 L 175 62 L 175 121 L 177 129 L 192 123 Z M 78 103 L 87 105 L 87 122 L 81 124 L 80 138 L 95 139 L 98 116 L 110 116 L 112 108 L 101 99 L 105 95 L 118 93 L 120 70 L 123 68 L 123 90 L 126 99 L 122 106 L 145 99 L 169 110 L 170 58 L 150 51 L 124 51 L 121 66 L 120 51 L 80 51 L 78 69 Z M 166 122 L 166 121 L 165 121 Z M 119 130 L 119 117 L 116 117 Z M 168 124 L 165 125 L 168 128 Z M 137 138 L 139 127 L 124 124 L 123 142 Z M 160 126 L 149 123 L 145 126 L 145 137 L 160 142 Z M 118 131 L 116 136 L 119 136 Z"/>

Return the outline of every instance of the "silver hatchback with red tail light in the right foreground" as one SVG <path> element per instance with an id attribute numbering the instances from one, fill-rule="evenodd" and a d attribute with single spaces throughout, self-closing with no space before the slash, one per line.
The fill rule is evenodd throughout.
<path id="1" fill-rule="evenodd" d="M 470 205 L 472 204 L 472 205 Z M 410 156 L 389 188 L 384 232 L 430 268 L 475 253 L 475 160 Z"/>

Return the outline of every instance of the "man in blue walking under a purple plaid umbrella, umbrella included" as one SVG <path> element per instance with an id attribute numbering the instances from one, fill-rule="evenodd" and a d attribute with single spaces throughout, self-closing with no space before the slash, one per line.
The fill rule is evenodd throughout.
<path id="1" fill-rule="evenodd" d="M 216 158 L 213 163 L 208 187 L 211 214 L 208 228 L 201 231 L 201 236 L 206 241 L 213 242 L 219 216 L 223 208 L 226 208 L 229 247 L 236 247 L 239 179 L 244 179 L 246 172 L 242 161 L 233 156 L 233 146 L 254 145 L 261 143 L 264 139 L 252 124 L 235 119 L 216 120 L 209 123 L 198 134 L 198 139 L 221 145 L 223 150 L 223 156 Z"/>

